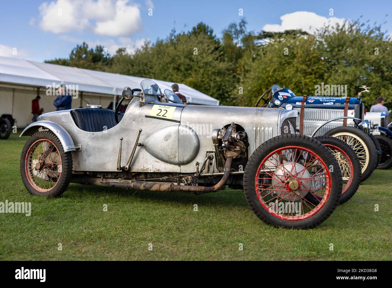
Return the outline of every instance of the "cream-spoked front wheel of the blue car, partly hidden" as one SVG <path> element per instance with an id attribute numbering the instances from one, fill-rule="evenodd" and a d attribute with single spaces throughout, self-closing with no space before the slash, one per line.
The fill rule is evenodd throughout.
<path id="1" fill-rule="evenodd" d="M 354 145 L 359 162 L 361 162 L 361 182 L 365 181 L 369 176 L 373 173 L 374 169 L 377 167 L 377 151 L 376 146 L 372 139 L 370 139 L 369 135 L 367 135 L 362 130 L 349 127 L 349 126 L 340 126 L 329 130 L 325 133 L 327 136 L 338 137 L 345 142 L 350 142 L 350 137 L 355 137 L 356 141 L 359 140 L 363 143 L 361 145 Z M 350 145 L 350 143 L 348 143 Z M 352 143 L 351 143 L 352 144 Z M 350 145 L 353 148 L 353 145 Z M 360 153 L 360 154 L 359 154 Z"/>

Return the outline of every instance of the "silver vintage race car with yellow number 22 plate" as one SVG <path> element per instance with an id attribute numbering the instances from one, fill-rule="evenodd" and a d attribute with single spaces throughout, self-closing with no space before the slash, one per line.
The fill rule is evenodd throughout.
<path id="1" fill-rule="evenodd" d="M 313 228 L 339 203 L 341 167 L 320 141 L 295 134 L 297 111 L 185 105 L 149 79 L 125 87 L 123 99 L 123 113 L 71 109 L 26 127 L 27 190 L 55 197 L 79 183 L 203 194 L 229 185 L 265 223 L 287 228 Z"/>

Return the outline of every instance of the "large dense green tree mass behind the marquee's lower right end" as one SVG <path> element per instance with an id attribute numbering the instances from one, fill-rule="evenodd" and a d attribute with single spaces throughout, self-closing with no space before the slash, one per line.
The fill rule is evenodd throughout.
<path id="1" fill-rule="evenodd" d="M 232 103 L 236 83 L 235 66 L 226 61 L 221 41 L 204 23 L 187 33 L 147 42 L 132 55 L 116 53 L 108 71 L 184 83 L 225 104 Z"/>

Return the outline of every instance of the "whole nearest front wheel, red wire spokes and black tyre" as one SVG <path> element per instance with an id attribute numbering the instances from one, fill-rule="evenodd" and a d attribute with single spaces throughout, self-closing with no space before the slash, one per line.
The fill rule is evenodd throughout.
<path id="1" fill-rule="evenodd" d="M 330 150 L 296 134 L 261 144 L 249 158 L 243 182 L 245 197 L 258 218 L 285 228 L 321 224 L 338 205 L 342 191 L 340 167 Z M 320 200 L 315 205 L 309 198 Z"/>

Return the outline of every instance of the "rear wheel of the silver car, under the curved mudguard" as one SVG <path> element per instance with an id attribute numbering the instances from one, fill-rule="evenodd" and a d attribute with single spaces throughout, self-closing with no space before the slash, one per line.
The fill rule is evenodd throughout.
<path id="1" fill-rule="evenodd" d="M 37 145 L 36 147 L 39 146 L 38 151 L 34 148 L 34 145 Z M 44 145 L 48 145 L 47 148 L 44 148 Z M 40 153 L 41 148 L 43 153 Z M 43 159 L 42 163 L 44 164 L 41 164 L 43 167 L 42 169 L 36 169 L 37 162 L 40 161 L 35 159 L 33 156 L 34 153 L 36 153 L 35 155 L 39 155 L 38 158 Z M 52 158 L 49 159 L 49 157 Z M 34 166 L 34 168 L 29 167 L 27 163 L 31 163 L 31 166 Z M 47 167 L 47 165 L 52 166 Z M 36 173 L 36 175 L 34 175 L 34 173 Z M 57 136 L 52 131 L 35 133 L 27 140 L 22 149 L 22 155 L 20 157 L 20 174 L 23 183 L 30 194 L 58 197 L 67 189 L 72 177 L 71 152 L 64 152 L 60 140 L 58 140 Z M 40 174 L 40 176 L 38 176 L 38 174 Z M 56 180 L 56 183 L 51 187 L 51 182 L 54 182 L 53 180 Z"/>

